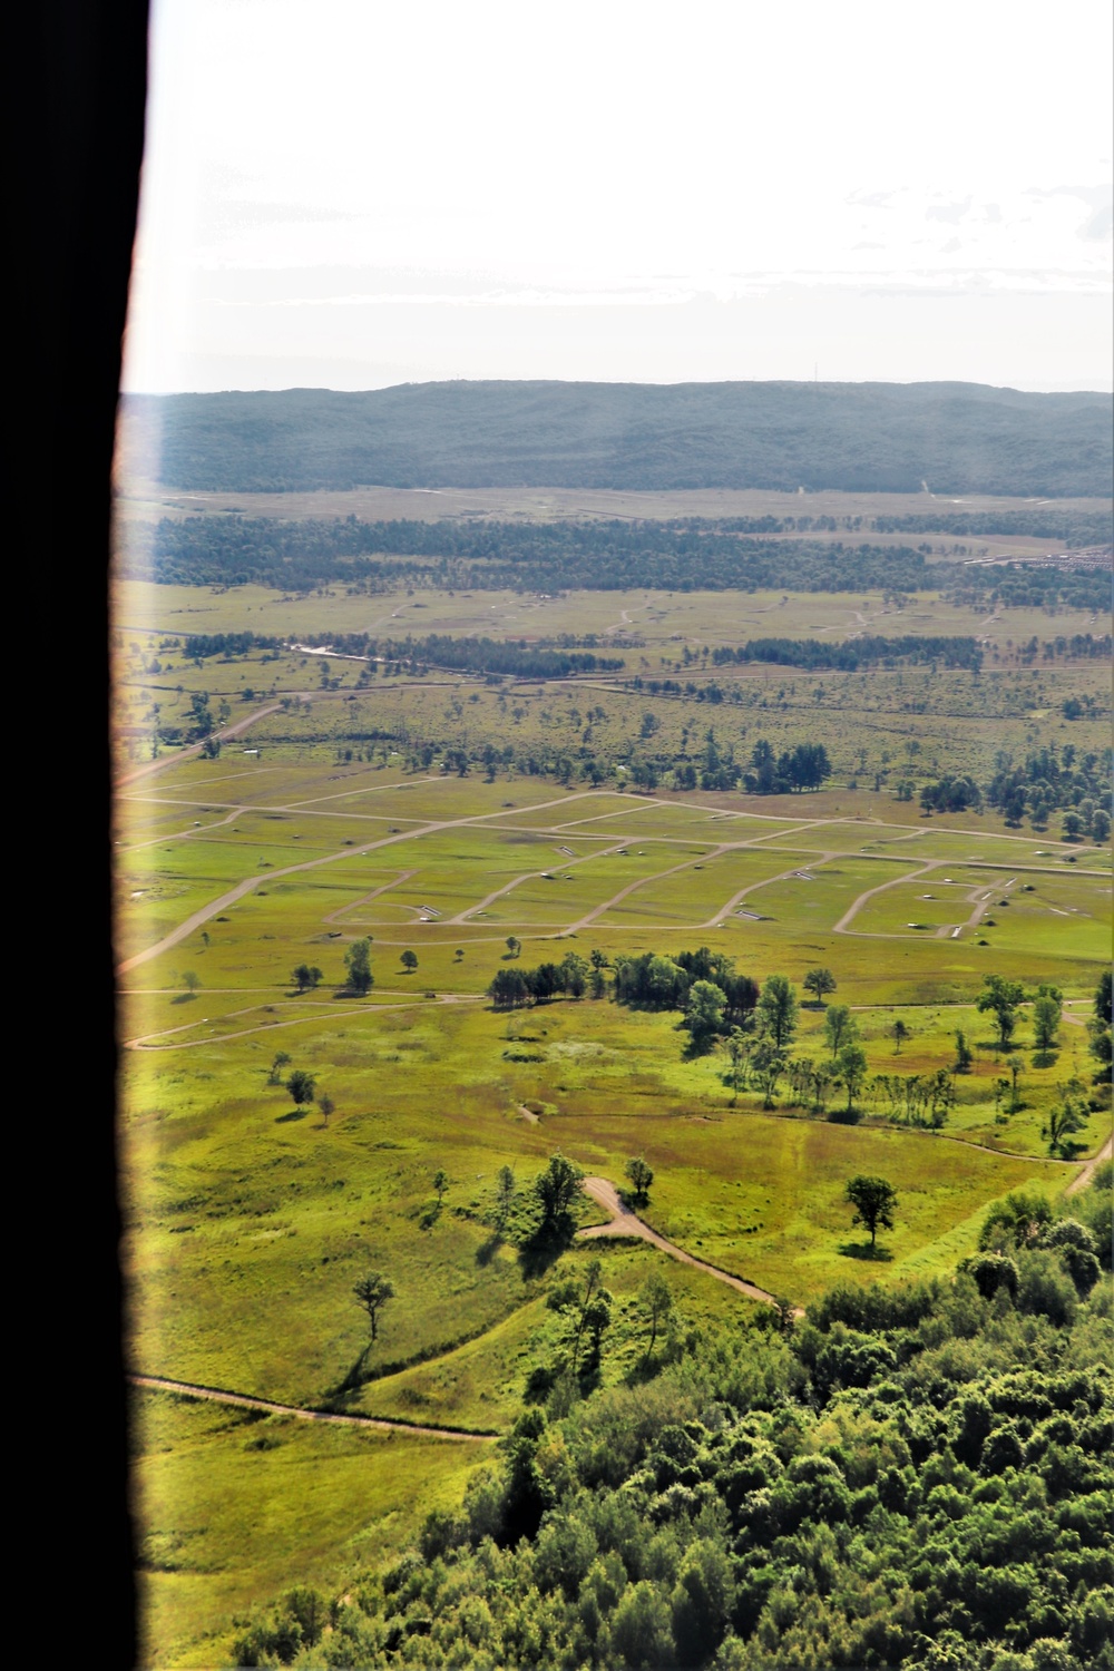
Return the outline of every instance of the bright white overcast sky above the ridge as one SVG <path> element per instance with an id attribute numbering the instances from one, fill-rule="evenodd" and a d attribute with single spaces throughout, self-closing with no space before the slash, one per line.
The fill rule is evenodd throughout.
<path id="1" fill-rule="evenodd" d="M 154 0 L 124 386 L 1109 389 L 1107 0 Z"/>

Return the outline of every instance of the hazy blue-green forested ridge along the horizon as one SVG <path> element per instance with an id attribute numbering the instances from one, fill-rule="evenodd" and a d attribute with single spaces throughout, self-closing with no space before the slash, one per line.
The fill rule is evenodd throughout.
<path id="1" fill-rule="evenodd" d="M 132 471 L 180 490 L 1111 491 L 1111 396 L 979 383 L 416 383 L 132 394 Z"/>

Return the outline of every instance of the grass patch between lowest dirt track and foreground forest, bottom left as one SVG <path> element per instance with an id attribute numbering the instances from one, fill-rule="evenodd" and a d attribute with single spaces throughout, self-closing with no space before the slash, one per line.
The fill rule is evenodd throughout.
<path id="1" fill-rule="evenodd" d="M 456 1507 L 486 1445 L 135 1394 L 140 1663 L 230 1663 L 232 1619 L 292 1584 L 336 1589 Z"/>

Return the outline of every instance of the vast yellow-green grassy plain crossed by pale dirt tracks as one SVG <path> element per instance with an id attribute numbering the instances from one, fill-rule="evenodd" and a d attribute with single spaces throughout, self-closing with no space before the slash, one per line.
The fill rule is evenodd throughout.
<path id="1" fill-rule="evenodd" d="M 980 622 L 934 595 L 897 612 L 850 593 L 286 598 L 124 582 L 115 608 L 117 760 L 130 779 L 114 839 L 117 957 L 130 962 L 120 1161 L 135 1372 L 501 1432 L 551 1342 L 554 1272 L 605 1262 L 615 1295 L 605 1384 L 640 1362 L 650 1270 L 668 1280 L 678 1327 L 750 1303 L 645 1243 L 576 1243 L 558 1267 L 539 1267 L 494 1230 L 503 1165 L 528 1191 L 556 1148 L 616 1185 L 625 1161 L 645 1155 L 656 1175 L 645 1216 L 661 1235 L 795 1303 L 848 1275 L 894 1283 L 947 1272 L 975 1247 L 990 1201 L 1019 1185 L 1057 1196 L 1077 1175 L 1077 1161 L 1049 1156 L 1042 1126 L 1072 1078 L 1091 1083 L 1082 1023 L 1109 961 L 1109 849 L 1061 841 L 1059 815 L 1047 832 L 1009 830 L 990 812 L 927 819 L 895 799 L 894 780 L 942 764 L 985 777 L 997 749 L 1020 755 L 1041 742 L 1101 749 L 1102 719 L 1059 712 L 1066 695 L 1106 700 L 1106 668 L 1019 667 L 1014 652 L 1030 633 L 1102 625 L 1025 610 Z M 321 658 L 299 652 L 195 667 L 159 648 L 169 633 L 246 628 L 595 632 L 626 667 L 620 678 L 506 688 L 377 675 L 356 692 L 359 665 L 334 657 L 327 673 L 341 683 L 322 692 Z M 705 647 L 748 635 L 863 628 L 979 630 L 987 668 L 974 680 L 924 667 L 698 665 Z M 636 673 L 680 677 L 683 648 L 701 700 L 630 687 Z M 713 678 L 738 700 L 705 702 Z M 214 709 L 227 700 L 232 720 L 294 692 L 312 702 L 257 719 L 215 760 L 169 754 L 130 775 L 150 764 L 154 703 L 185 724 L 199 692 Z M 399 747 L 514 740 L 576 757 L 586 724 L 620 749 L 646 715 L 655 747 L 670 750 L 686 739 L 703 747 L 708 729 L 740 759 L 758 737 L 775 749 L 823 739 L 835 779 L 807 795 L 635 794 L 621 774 L 596 787 L 503 769 L 459 777 L 441 772 L 439 754 L 408 772 Z M 356 740 L 364 734 L 374 749 Z M 374 986 L 357 998 L 344 954 L 362 936 Z M 503 1014 L 484 996 L 513 964 L 700 944 L 757 981 L 777 971 L 800 986 L 817 964 L 833 971 L 868 1064 L 857 1123 L 815 1115 L 785 1079 L 763 1108 L 753 1084 L 733 1088 L 722 1048 L 686 1048 L 676 1013 L 585 998 Z M 301 996 L 299 962 L 322 971 Z M 987 973 L 1027 991 L 1052 979 L 1067 998 L 1047 1059 L 1034 1061 L 1020 1011 L 1015 1098 L 1002 1095 L 1009 1068 L 974 1009 Z M 947 1125 L 902 1123 L 882 1081 L 950 1068 L 957 1029 L 974 1061 L 954 1079 Z M 277 1051 L 332 1098 L 327 1121 L 269 1083 Z M 793 1051 L 812 1063 L 830 1054 L 818 1008 L 802 1008 Z M 843 1101 L 837 1091 L 830 1106 Z M 1079 1158 L 1101 1148 L 1109 1123 L 1107 1108 L 1091 1111 Z M 438 1168 L 449 1178 L 441 1203 Z M 877 1258 L 842 1200 L 855 1171 L 899 1190 Z M 585 1222 L 593 1213 L 585 1203 Z M 351 1293 L 367 1268 L 396 1287 L 374 1345 Z M 459 1502 L 486 1452 L 256 1422 L 150 1392 L 134 1435 L 150 1666 L 217 1663 L 234 1613 L 287 1582 L 337 1586 L 389 1557 L 429 1507 Z"/>

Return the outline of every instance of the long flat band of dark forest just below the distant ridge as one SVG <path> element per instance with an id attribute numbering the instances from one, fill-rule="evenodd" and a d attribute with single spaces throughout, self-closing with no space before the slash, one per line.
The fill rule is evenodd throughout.
<path id="1" fill-rule="evenodd" d="M 164 585 L 264 585 L 311 592 L 344 582 L 516 592 L 884 592 L 950 588 L 1005 605 L 1062 602 L 1109 608 L 1109 573 L 1037 563 L 975 568 L 929 561 L 929 548 L 843 540 L 762 538 L 710 521 L 312 521 L 164 518 L 129 533 L 124 566 Z"/>

